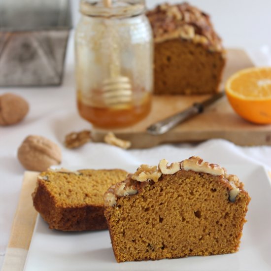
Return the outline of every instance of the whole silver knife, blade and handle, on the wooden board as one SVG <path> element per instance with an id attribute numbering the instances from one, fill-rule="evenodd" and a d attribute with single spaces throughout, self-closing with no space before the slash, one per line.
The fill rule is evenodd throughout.
<path id="1" fill-rule="evenodd" d="M 220 92 L 213 95 L 211 98 L 203 102 L 195 102 L 192 106 L 187 109 L 174 114 L 164 120 L 158 121 L 147 128 L 147 132 L 151 135 L 162 135 L 167 133 L 170 129 L 174 128 L 178 124 L 190 119 L 200 113 L 202 113 L 205 107 L 216 102 L 218 99 L 222 98 L 225 92 Z"/>

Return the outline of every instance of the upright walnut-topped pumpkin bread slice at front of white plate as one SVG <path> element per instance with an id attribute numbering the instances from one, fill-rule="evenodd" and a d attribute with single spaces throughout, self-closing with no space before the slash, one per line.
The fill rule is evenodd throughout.
<path id="1" fill-rule="evenodd" d="M 117 262 L 234 253 L 250 201 L 237 176 L 191 157 L 141 165 L 104 195 Z"/>

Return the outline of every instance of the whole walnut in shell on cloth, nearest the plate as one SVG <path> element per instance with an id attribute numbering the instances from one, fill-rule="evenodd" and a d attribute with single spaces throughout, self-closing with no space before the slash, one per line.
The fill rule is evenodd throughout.
<path id="1" fill-rule="evenodd" d="M 47 170 L 60 164 L 62 160 L 60 147 L 39 135 L 27 136 L 19 147 L 17 156 L 25 169 L 34 171 Z"/>

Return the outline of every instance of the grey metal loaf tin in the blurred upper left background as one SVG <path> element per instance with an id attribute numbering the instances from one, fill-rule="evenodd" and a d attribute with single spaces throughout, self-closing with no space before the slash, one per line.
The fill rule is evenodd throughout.
<path id="1" fill-rule="evenodd" d="M 62 82 L 69 0 L 0 1 L 0 86 Z"/>

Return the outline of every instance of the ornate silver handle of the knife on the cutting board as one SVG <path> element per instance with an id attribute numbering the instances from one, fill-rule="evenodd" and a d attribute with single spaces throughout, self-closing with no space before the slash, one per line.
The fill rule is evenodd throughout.
<path id="1" fill-rule="evenodd" d="M 167 133 L 170 129 L 177 126 L 179 123 L 199 114 L 203 111 L 200 103 L 194 103 L 193 106 L 186 110 L 177 113 L 164 120 L 156 122 L 147 128 L 147 132 L 151 135 L 162 135 Z"/>

